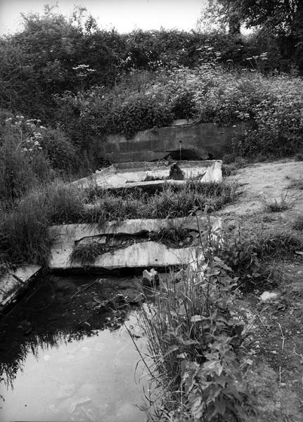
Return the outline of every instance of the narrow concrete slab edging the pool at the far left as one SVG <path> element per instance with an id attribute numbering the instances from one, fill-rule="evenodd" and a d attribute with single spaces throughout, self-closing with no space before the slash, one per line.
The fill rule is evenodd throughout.
<path id="1" fill-rule="evenodd" d="M 6 276 L 0 279 L 0 307 L 5 307 L 13 301 L 20 290 L 26 288 L 28 281 L 40 269 L 39 265 L 27 265 L 27 267 L 20 267 L 16 271 L 8 272 Z"/>

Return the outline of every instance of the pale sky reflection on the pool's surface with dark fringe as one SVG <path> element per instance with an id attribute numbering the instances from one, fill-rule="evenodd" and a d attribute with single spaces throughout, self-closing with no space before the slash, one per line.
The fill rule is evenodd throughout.
<path id="1" fill-rule="evenodd" d="M 32 310 L 28 303 L 25 308 L 28 306 Z M 19 319 L 26 316 L 23 308 L 16 309 Z M 103 316 L 102 324 L 101 316 L 98 319 L 95 316 L 95 322 L 89 320 L 89 330 L 87 324 L 79 324 L 76 317 L 78 328 L 64 329 L 62 319 L 61 324 L 56 321 L 54 331 L 48 331 L 48 319 L 44 314 L 40 315 L 45 319 L 44 324 L 36 326 L 35 333 L 28 336 L 25 335 L 28 328 L 24 332 L 28 321 L 22 320 L 23 325 L 19 321 L 17 328 L 22 337 L 17 335 L 17 330 L 13 333 L 15 340 L 8 344 L 6 338 L 6 349 L 1 349 L 4 381 L 0 385 L 0 395 L 5 401 L 0 402 L 0 421 L 146 421 L 146 416 L 136 407 L 144 401 L 145 377 L 140 383 L 134 380 L 138 352 L 121 325 L 126 316 L 111 312 Z M 15 317 L 17 315 L 12 319 Z M 115 329 L 106 327 L 112 326 L 113 319 Z M 5 324 L 6 319 L 2 321 Z M 132 311 L 125 325 L 132 331 L 139 330 L 136 321 L 136 312 Z M 144 351 L 145 342 L 140 331 L 136 333 L 136 344 Z M 10 349 L 11 354 L 8 353 Z M 137 369 L 137 380 L 143 371 L 143 365 Z"/>

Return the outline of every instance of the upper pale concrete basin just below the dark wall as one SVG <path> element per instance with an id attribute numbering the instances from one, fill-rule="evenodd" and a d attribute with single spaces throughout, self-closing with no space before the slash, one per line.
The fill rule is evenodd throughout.
<path id="1" fill-rule="evenodd" d="M 148 176 L 157 177 L 158 179 L 165 179 L 169 176 L 169 165 L 160 162 L 143 163 L 141 167 L 127 166 L 123 163 L 121 165 L 112 165 L 91 177 L 85 177 L 72 182 L 72 186 L 87 188 L 90 184 L 96 184 L 105 189 L 107 188 L 129 188 L 134 186 L 153 186 L 155 184 L 163 185 L 168 184 L 184 184 L 186 179 L 191 177 L 201 177 L 200 181 L 221 181 L 221 160 L 213 161 L 191 161 L 191 162 L 178 162 L 179 167 L 184 173 L 185 180 L 156 180 L 156 181 L 143 181 Z M 138 163 L 137 163 L 138 164 Z"/>

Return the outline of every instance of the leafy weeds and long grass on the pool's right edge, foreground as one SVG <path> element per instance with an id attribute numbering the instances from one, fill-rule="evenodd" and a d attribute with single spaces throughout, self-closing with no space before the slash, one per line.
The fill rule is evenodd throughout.
<path id="1" fill-rule="evenodd" d="M 159 385 L 156 420 L 247 420 L 238 360 L 245 320 L 235 307 L 236 280 L 211 243 L 204 248 L 205 265 L 198 260 L 179 288 L 163 283 L 155 305 L 141 310 L 150 376 Z"/>

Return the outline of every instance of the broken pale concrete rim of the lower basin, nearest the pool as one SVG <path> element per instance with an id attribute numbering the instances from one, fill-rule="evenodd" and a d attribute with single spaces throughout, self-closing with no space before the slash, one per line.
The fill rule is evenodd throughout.
<path id="1" fill-rule="evenodd" d="M 198 217 L 199 228 L 204 230 L 207 227 L 207 219 Z M 214 231 L 220 229 L 221 220 L 211 217 L 210 224 Z M 63 226 L 52 226 L 49 234 L 53 238 L 51 250 L 51 269 L 77 269 L 82 264 L 71 263 L 70 254 L 77 241 L 94 236 L 105 234 L 140 234 L 143 231 L 158 232 L 164 228 L 182 226 L 183 228 L 198 231 L 198 224 L 195 217 L 179 219 L 130 219 L 122 224 L 110 222 L 102 229 L 96 224 L 67 224 Z M 189 248 L 168 248 L 162 243 L 148 241 L 145 243 L 134 243 L 127 248 L 117 249 L 114 252 L 107 252 L 97 257 L 94 264 L 88 267 L 95 269 L 118 269 L 118 268 L 139 268 L 139 267 L 168 267 L 178 264 L 188 264 L 195 259 L 196 247 Z"/>

